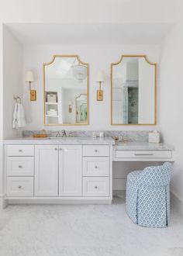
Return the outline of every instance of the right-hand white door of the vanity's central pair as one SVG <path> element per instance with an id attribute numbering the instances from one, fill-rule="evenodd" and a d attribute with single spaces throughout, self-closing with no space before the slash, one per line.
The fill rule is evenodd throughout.
<path id="1" fill-rule="evenodd" d="M 82 146 L 59 147 L 59 195 L 82 195 Z"/>

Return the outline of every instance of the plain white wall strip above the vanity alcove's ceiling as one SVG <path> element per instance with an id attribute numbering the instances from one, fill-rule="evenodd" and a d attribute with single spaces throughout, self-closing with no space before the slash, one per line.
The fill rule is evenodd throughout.
<path id="1" fill-rule="evenodd" d="M 165 8 L 166 6 L 166 8 Z M 172 0 L 1 0 L 3 22 L 171 22 Z"/>

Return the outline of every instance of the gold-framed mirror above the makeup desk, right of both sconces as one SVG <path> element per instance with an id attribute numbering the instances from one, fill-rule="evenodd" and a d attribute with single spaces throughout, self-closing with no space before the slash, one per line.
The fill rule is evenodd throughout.
<path id="1" fill-rule="evenodd" d="M 123 55 L 111 64 L 111 124 L 157 123 L 157 64 L 146 55 Z"/>

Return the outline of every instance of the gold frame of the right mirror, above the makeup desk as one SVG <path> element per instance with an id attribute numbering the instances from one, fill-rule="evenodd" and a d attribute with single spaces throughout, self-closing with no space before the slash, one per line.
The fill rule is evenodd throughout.
<path id="1" fill-rule="evenodd" d="M 123 58 L 125 57 L 143 57 L 145 61 L 147 61 L 148 64 L 153 65 L 155 67 L 155 78 L 154 78 L 154 123 L 112 123 L 112 67 L 120 64 L 123 62 Z M 128 54 L 128 55 L 122 55 L 119 59 L 119 61 L 112 63 L 111 64 L 111 125 L 112 126 L 155 126 L 157 125 L 157 63 L 150 62 L 147 59 L 147 55 L 141 54 L 141 55 L 136 55 L 136 54 Z"/>

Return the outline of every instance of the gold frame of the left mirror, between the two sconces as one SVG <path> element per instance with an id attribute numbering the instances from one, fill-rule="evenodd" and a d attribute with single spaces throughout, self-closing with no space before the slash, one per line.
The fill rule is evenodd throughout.
<path id="1" fill-rule="evenodd" d="M 64 58 L 64 57 L 75 57 L 78 60 L 79 64 L 83 64 L 87 66 L 87 121 L 86 123 L 46 123 L 45 121 L 45 113 L 46 113 L 46 106 L 45 106 L 45 67 L 49 66 L 50 64 L 54 63 L 54 60 L 57 58 Z M 43 125 L 44 126 L 88 126 L 89 124 L 89 64 L 85 63 L 80 60 L 77 54 L 55 54 L 50 62 L 43 63 Z"/>

